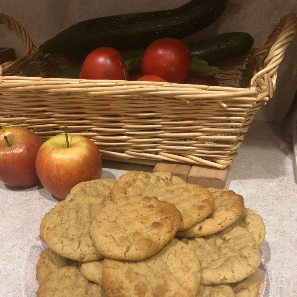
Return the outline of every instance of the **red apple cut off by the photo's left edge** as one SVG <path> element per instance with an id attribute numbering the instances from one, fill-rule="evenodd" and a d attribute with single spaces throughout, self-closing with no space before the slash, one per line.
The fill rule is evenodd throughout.
<path id="1" fill-rule="evenodd" d="M 22 127 L 0 130 L 0 181 L 13 187 L 32 186 L 38 182 L 35 159 L 43 141 Z"/>

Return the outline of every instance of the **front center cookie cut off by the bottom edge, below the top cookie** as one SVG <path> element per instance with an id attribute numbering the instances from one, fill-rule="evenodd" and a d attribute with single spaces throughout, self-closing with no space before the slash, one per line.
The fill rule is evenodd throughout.
<path id="1" fill-rule="evenodd" d="M 196 297 L 199 280 L 197 256 L 176 239 L 144 261 L 105 258 L 103 265 L 108 297 Z"/>

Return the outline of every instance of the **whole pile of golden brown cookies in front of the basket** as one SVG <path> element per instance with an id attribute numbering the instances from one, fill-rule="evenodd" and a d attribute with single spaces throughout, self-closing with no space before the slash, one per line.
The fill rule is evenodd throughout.
<path id="1" fill-rule="evenodd" d="M 256 297 L 262 218 L 169 172 L 76 185 L 44 217 L 38 297 Z"/>

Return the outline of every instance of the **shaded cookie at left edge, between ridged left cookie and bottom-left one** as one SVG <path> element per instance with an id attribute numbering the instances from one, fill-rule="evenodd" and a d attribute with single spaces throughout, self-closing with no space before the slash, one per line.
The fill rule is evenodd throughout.
<path id="1" fill-rule="evenodd" d="M 36 278 L 41 283 L 50 273 L 59 270 L 60 268 L 74 264 L 75 261 L 64 258 L 49 247 L 43 250 L 40 254 L 36 265 Z"/>

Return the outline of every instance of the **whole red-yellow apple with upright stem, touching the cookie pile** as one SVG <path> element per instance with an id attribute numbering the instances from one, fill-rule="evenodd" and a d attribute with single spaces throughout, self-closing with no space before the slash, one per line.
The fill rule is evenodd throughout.
<path id="1" fill-rule="evenodd" d="M 65 199 L 75 185 L 101 177 L 102 159 L 99 149 L 88 138 L 57 135 L 39 149 L 36 172 L 52 195 Z"/>

